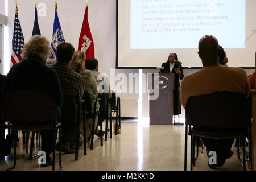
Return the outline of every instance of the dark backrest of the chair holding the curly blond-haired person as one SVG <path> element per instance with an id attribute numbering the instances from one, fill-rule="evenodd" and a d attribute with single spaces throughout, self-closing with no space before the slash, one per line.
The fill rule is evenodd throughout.
<path id="1" fill-rule="evenodd" d="M 2 98 L 2 119 L 15 123 L 53 121 L 57 118 L 56 102 L 47 92 L 6 90 Z"/>

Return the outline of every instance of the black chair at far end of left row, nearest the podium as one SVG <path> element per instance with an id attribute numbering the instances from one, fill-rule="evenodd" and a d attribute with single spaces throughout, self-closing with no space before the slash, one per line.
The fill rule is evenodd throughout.
<path id="1" fill-rule="evenodd" d="M 117 123 L 119 123 L 119 127 L 121 129 L 121 102 L 120 97 L 116 97 L 114 91 L 112 91 L 112 97 L 110 98 L 110 123 L 112 123 L 112 113 L 115 113 L 115 135 L 117 135 Z M 112 127 L 110 126 L 110 138 L 112 138 Z"/>

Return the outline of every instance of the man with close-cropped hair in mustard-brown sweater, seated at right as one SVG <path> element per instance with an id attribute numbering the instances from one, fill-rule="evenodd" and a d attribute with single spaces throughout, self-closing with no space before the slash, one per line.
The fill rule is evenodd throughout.
<path id="1" fill-rule="evenodd" d="M 218 40 L 212 35 L 205 35 L 199 42 L 199 57 L 203 68 L 183 78 L 181 82 L 181 104 L 186 103 L 191 96 L 209 94 L 217 91 L 239 92 L 249 95 L 249 81 L 241 68 L 224 67 L 218 56 Z M 208 151 L 216 151 L 217 165 L 209 164 L 210 168 L 221 167 L 233 152 L 230 150 L 232 139 L 202 138 Z"/>

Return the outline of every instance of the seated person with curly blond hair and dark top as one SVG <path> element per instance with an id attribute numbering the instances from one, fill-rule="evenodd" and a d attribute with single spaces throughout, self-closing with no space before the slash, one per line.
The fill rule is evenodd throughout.
<path id="1" fill-rule="evenodd" d="M 14 64 L 6 76 L 3 90 L 34 89 L 48 92 L 55 98 L 60 115 L 63 103 L 60 81 L 54 69 L 43 64 L 43 61 L 46 61 L 50 55 L 50 42 L 44 36 L 32 36 L 23 47 L 23 60 Z M 47 164 L 41 166 L 46 167 L 52 164 L 49 154 L 53 151 L 54 140 L 52 138 L 54 138 L 54 133 L 53 131 L 42 131 L 41 136 L 42 151 L 45 151 L 47 155 Z"/>

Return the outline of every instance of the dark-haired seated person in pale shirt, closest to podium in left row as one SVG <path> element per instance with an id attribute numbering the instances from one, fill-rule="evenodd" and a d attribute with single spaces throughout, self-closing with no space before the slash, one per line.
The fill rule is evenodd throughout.
<path id="1" fill-rule="evenodd" d="M 111 98 L 112 93 L 109 85 L 109 77 L 105 73 L 98 72 L 98 60 L 95 58 L 89 58 L 85 61 L 85 69 L 89 69 L 92 71 L 92 75 L 94 76 L 97 84 L 99 86 L 99 93 L 105 93 L 106 98 Z M 104 87 L 106 86 L 106 88 Z M 105 102 L 106 106 L 106 102 Z M 110 104 L 109 104 L 109 115 L 110 115 Z M 106 108 L 106 107 L 105 107 Z"/>

